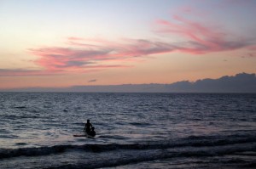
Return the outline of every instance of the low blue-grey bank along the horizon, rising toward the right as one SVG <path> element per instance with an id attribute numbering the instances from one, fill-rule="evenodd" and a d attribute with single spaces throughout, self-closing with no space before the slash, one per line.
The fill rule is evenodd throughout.
<path id="1" fill-rule="evenodd" d="M 2 90 L 3 92 L 80 92 L 80 93 L 256 93 L 255 74 L 240 73 L 218 79 L 171 84 L 123 84 L 103 86 L 73 86 L 66 88 L 29 87 Z"/>

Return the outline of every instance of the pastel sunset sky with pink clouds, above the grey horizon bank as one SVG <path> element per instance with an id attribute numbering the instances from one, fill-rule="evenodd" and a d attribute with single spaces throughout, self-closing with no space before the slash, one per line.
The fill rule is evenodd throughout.
<path id="1" fill-rule="evenodd" d="M 0 89 L 256 73 L 254 0 L 0 0 Z"/>

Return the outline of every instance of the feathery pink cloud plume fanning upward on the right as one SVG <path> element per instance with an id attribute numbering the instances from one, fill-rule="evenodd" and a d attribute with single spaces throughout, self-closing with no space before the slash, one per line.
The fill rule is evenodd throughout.
<path id="1" fill-rule="evenodd" d="M 206 54 L 235 50 L 251 45 L 246 39 L 225 32 L 220 27 L 210 27 L 178 15 L 173 15 L 173 21 L 157 20 L 156 23 L 160 26 L 158 33 L 183 37 L 183 42 L 177 46 L 180 52 Z"/>

